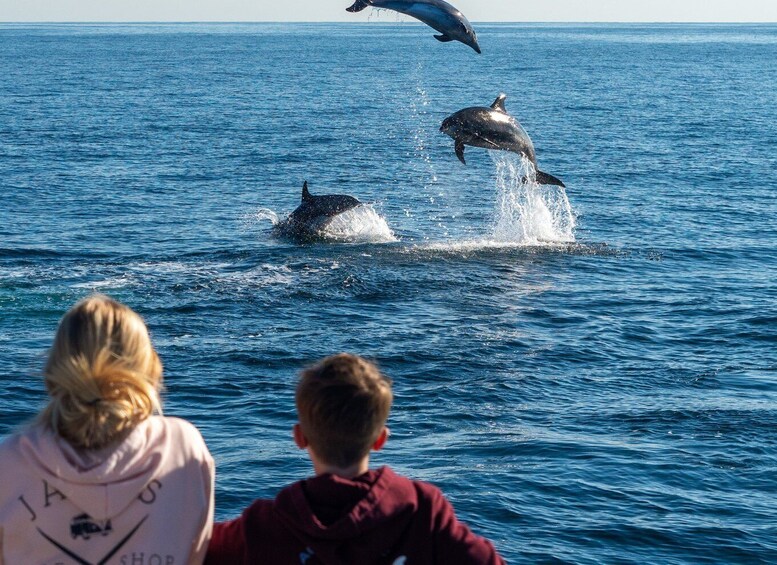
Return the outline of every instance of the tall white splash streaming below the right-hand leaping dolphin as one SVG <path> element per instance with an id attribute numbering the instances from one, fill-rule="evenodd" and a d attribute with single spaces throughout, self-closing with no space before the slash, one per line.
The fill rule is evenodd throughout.
<path id="1" fill-rule="evenodd" d="M 493 239 L 523 245 L 574 242 L 575 216 L 566 191 L 537 184 L 534 165 L 525 157 L 489 153 L 496 166 Z"/>

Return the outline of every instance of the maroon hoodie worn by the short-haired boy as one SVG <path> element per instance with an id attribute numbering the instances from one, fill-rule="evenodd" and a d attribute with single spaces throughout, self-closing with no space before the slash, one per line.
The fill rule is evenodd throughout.
<path id="1" fill-rule="evenodd" d="M 216 524 L 206 564 L 503 564 L 440 490 L 388 467 L 294 483 Z"/>

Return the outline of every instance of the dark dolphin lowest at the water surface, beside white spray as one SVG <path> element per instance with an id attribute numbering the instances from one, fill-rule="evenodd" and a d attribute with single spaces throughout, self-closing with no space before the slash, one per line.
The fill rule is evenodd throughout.
<path id="1" fill-rule="evenodd" d="M 275 229 L 279 234 L 294 239 L 315 239 L 335 216 L 359 205 L 361 202 L 346 194 L 313 196 L 308 190 L 308 181 L 305 181 L 302 185 L 302 202 Z"/>

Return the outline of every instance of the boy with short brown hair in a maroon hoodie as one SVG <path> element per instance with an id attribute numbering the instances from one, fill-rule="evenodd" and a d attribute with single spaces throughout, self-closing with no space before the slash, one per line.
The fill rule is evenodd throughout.
<path id="1" fill-rule="evenodd" d="M 434 486 L 369 469 L 389 436 L 391 381 L 348 354 L 302 372 L 294 442 L 316 476 L 217 524 L 206 563 L 503 564 Z"/>

